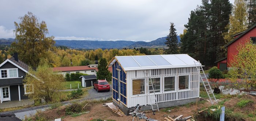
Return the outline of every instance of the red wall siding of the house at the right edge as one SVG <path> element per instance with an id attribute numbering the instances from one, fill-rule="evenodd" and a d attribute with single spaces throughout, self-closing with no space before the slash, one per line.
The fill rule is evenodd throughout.
<path id="1" fill-rule="evenodd" d="M 240 44 L 245 44 L 247 41 L 250 40 L 250 37 L 256 37 L 256 27 L 252 30 L 248 31 L 242 37 L 237 39 L 235 42 L 227 46 L 227 67 L 230 67 L 231 60 L 234 59 L 234 55 L 238 53 L 237 46 Z"/>

